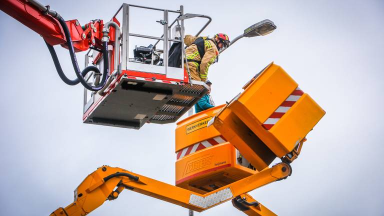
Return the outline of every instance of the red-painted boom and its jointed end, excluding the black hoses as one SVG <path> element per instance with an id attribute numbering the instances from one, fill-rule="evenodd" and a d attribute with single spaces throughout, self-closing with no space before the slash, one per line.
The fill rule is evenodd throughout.
<path id="1" fill-rule="evenodd" d="M 36 6 L 40 5 L 40 6 Z M 43 11 L 42 7 L 48 9 Z M 0 9 L 15 18 L 25 26 L 40 34 L 50 45 L 61 44 L 66 47 L 64 31 L 58 21 L 61 17 L 57 12 L 50 10 L 34 0 L 3 0 Z M 77 19 L 65 21 L 75 51 L 84 51 L 91 45 L 101 48 L 103 21 L 95 19 L 81 26 Z M 113 31 L 114 32 L 114 31 Z M 110 32 L 110 40 L 114 41 L 114 33 Z"/>

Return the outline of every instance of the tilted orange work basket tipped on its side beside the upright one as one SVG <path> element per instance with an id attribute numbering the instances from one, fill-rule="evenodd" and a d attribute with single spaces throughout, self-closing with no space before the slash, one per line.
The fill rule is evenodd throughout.
<path id="1" fill-rule="evenodd" d="M 325 114 L 273 62 L 243 89 L 216 114 L 213 125 L 257 170 L 267 167 L 272 155 L 291 156 L 294 148 Z M 256 138 L 250 138 L 253 134 Z"/>

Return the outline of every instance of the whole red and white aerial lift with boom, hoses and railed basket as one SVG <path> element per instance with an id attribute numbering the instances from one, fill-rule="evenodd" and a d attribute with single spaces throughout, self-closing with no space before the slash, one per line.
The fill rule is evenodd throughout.
<path id="1" fill-rule="evenodd" d="M 103 22 L 101 19 L 93 19 L 80 25 L 76 19 L 65 21 L 51 7 L 36 0 L 0 1 L 1 10 L 42 36 L 62 81 L 68 85 L 80 82 L 84 86 L 84 123 L 139 129 L 147 122 L 175 122 L 205 94 L 207 86 L 199 81 L 192 84 L 181 61 L 176 67 L 167 66 L 170 57 L 179 60 L 183 58 L 182 46 L 177 48 L 180 52 L 169 54 L 171 49 L 168 47 L 168 39 L 173 43 L 182 42 L 181 39 L 170 38 L 171 34 L 157 37 L 129 33 L 129 15 L 126 12 L 129 7 L 153 10 L 151 7 L 123 3 L 110 20 Z M 182 20 L 188 15 L 183 13 L 182 8 L 181 5 L 179 10 L 160 9 L 166 14 L 179 14 L 172 23 L 169 21 L 169 26 L 162 25 L 163 34 L 176 21 L 181 21 L 183 26 Z M 116 14 L 123 15 L 121 25 Z M 164 19 L 167 19 L 166 14 Z M 203 26 L 205 28 L 210 17 L 198 16 L 209 18 Z M 148 61 L 149 55 L 144 56 L 146 60 L 131 58 L 128 51 L 129 36 L 162 40 L 165 51 L 155 46 L 145 47 L 145 52 L 154 54 L 150 58 L 156 60 Z M 68 49 L 75 79 L 69 79 L 64 74 L 53 48 L 57 44 Z M 90 52 L 89 49 L 93 50 Z M 80 70 L 75 52 L 84 50 L 88 50 L 85 54 L 85 68 Z"/>

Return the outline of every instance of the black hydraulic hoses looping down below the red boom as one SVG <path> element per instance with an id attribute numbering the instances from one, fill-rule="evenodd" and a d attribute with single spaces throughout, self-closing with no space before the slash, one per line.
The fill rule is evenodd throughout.
<path id="1" fill-rule="evenodd" d="M 58 58 L 57 58 L 57 55 L 56 55 L 56 52 L 55 52 L 53 46 L 45 42 L 47 47 L 48 47 L 48 50 L 50 52 L 50 55 L 52 56 L 53 63 L 54 63 L 54 66 L 56 67 L 58 75 L 68 85 L 75 85 L 75 84 L 81 82 L 81 84 L 88 90 L 91 90 L 91 91 L 100 90 L 105 85 L 106 80 L 107 80 L 107 76 L 109 73 L 108 42 L 106 42 L 106 41 L 102 42 L 103 73 L 102 73 L 101 81 L 98 85 L 92 86 L 86 82 L 84 77 L 90 71 L 100 73 L 99 69 L 93 65 L 90 65 L 90 66 L 85 67 L 82 71 L 80 71 L 80 68 L 78 67 L 78 63 L 77 63 L 77 59 L 76 59 L 76 55 L 74 52 L 73 43 L 72 43 L 72 39 L 70 37 L 68 27 L 67 27 L 67 25 L 66 25 L 66 23 L 62 17 L 60 17 L 58 19 L 58 21 L 59 21 L 59 23 L 60 23 L 60 25 L 64 31 L 66 43 L 68 45 L 70 59 L 72 61 L 72 66 L 73 66 L 73 69 L 75 70 L 75 74 L 76 74 L 77 78 L 74 80 L 70 80 L 65 76 L 65 74 L 63 73 L 63 71 L 61 69 L 60 63 L 58 61 Z"/>

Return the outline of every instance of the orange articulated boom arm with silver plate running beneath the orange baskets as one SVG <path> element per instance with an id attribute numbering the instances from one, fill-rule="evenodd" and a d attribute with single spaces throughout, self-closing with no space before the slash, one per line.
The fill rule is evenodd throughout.
<path id="1" fill-rule="evenodd" d="M 105 200 L 117 198 L 123 189 L 129 189 L 201 212 L 255 188 L 286 178 L 290 173 L 289 164 L 279 163 L 209 193 L 199 194 L 122 168 L 104 165 L 97 168 L 80 183 L 75 190 L 75 200 L 72 203 L 64 208 L 57 208 L 50 215 L 86 215 Z M 108 176 L 112 177 L 108 178 Z"/>

